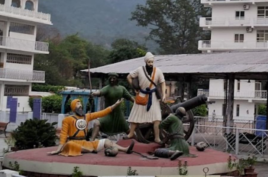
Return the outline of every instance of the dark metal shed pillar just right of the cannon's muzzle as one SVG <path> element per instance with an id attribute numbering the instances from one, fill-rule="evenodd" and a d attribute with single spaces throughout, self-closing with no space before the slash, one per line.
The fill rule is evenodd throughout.
<path id="1" fill-rule="evenodd" d="M 227 126 L 233 127 L 234 75 L 230 74 L 228 80 Z"/>

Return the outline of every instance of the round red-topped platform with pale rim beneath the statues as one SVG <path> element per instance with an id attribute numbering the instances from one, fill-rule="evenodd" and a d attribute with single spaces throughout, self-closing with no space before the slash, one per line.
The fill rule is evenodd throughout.
<path id="1" fill-rule="evenodd" d="M 118 144 L 129 144 L 129 140 L 119 141 Z M 139 148 L 141 152 L 144 152 L 148 151 L 148 149 L 153 150 L 154 147 L 157 147 L 155 143 L 146 145 L 136 142 L 134 150 L 137 151 L 137 148 Z M 179 157 L 174 161 L 164 158 L 151 160 L 137 154 L 126 154 L 122 152 L 116 157 L 106 157 L 103 151 L 97 154 L 85 153 L 77 157 L 46 155 L 46 152 L 56 149 L 57 147 L 37 148 L 9 153 L 4 156 L 3 165 L 9 167 L 9 161 L 17 161 L 21 170 L 48 174 L 71 174 L 73 167 L 79 166 L 85 175 L 93 176 L 126 175 L 127 167 L 132 167 L 133 170 L 137 170 L 139 175 L 154 176 L 176 175 L 178 161 L 181 160 L 182 162 L 188 162 L 190 175 L 204 174 L 202 172 L 204 167 L 209 168 L 208 174 L 228 172 L 227 159 L 229 154 L 213 149 L 206 149 L 200 152 L 195 147 L 190 147 L 190 153 L 196 154 L 198 157 Z M 113 169 L 112 172 L 108 172 L 110 169 Z"/>

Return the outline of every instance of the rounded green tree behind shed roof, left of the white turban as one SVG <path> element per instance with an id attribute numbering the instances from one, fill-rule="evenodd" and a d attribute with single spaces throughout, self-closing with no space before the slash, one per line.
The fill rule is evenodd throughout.
<path id="1" fill-rule="evenodd" d="M 111 46 L 113 50 L 108 56 L 110 63 L 143 57 L 147 50 L 144 45 L 139 45 L 137 42 L 127 39 L 117 39 Z"/>

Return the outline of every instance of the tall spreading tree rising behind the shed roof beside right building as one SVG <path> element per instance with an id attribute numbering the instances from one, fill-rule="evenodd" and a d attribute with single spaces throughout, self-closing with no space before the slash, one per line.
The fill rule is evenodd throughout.
<path id="1" fill-rule="evenodd" d="M 208 13 L 200 0 L 147 0 L 136 6 L 130 20 L 151 29 L 148 39 L 159 44 L 161 54 L 197 53 L 197 41 L 207 35 L 199 17 Z"/>

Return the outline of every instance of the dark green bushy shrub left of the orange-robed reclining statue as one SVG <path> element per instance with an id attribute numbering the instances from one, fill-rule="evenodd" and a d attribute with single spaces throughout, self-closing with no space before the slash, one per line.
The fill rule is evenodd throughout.
<path id="1" fill-rule="evenodd" d="M 49 147 L 55 145 L 57 123 L 47 123 L 47 120 L 29 119 L 21 122 L 21 125 L 13 131 L 15 146 L 22 149 L 34 147 Z"/>

